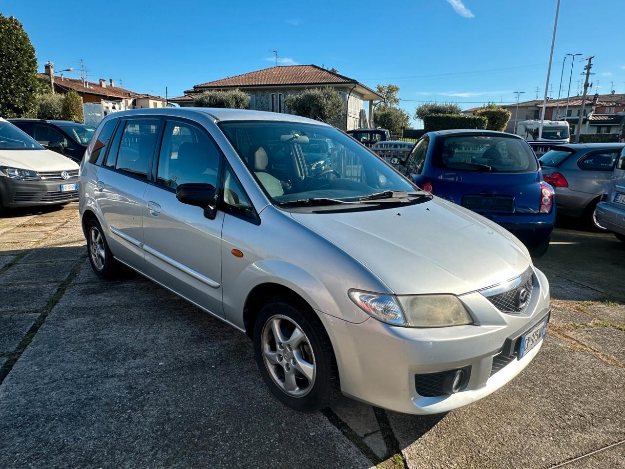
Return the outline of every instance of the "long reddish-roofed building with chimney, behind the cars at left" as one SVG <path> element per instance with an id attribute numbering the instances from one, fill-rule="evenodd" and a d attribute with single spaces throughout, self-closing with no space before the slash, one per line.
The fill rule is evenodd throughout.
<path id="1" fill-rule="evenodd" d="M 135 93 L 121 86 L 115 86 L 113 78 L 108 83 L 99 79 L 98 83 L 66 76 L 54 76 L 52 63 L 45 66 L 46 73 L 37 73 L 40 78 L 54 83 L 54 92 L 64 94 L 70 90 L 76 91 L 84 103 L 102 104 L 104 115 L 114 111 L 124 111 L 136 108 L 163 108 L 167 106 L 166 99 L 152 94 Z M 53 78 L 51 78 L 53 77 Z"/>

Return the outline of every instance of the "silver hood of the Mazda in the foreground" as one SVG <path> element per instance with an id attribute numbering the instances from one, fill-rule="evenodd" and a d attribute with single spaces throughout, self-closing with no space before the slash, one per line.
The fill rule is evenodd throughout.
<path id="1" fill-rule="evenodd" d="M 440 198 L 369 211 L 293 212 L 292 217 L 369 268 L 397 295 L 461 295 L 510 280 L 531 264 L 511 233 Z"/>

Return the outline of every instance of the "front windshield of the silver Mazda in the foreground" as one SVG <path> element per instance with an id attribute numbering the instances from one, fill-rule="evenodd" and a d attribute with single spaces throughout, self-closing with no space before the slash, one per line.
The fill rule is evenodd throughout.
<path id="1" fill-rule="evenodd" d="M 219 127 L 276 204 L 417 190 L 377 156 L 332 127 L 273 121 L 227 121 Z"/>

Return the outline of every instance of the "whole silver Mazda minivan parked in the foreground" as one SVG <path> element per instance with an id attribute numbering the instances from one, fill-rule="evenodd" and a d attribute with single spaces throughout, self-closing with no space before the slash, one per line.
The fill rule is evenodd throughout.
<path id="1" fill-rule="evenodd" d="M 297 410 L 342 392 L 448 411 L 511 380 L 546 333 L 549 285 L 514 236 L 311 119 L 114 113 L 79 189 L 96 275 L 129 266 L 246 333 Z"/>

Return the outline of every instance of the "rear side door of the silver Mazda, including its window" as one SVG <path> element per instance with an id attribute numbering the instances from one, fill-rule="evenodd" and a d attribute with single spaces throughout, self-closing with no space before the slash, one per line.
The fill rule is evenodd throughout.
<path id="1" fill-rule="evenodd" d="M 121 119 L 93 182 L 113 255 L 140 271 L 145 268 L 141 204 L 160 124 L 154 117 Z"/>

